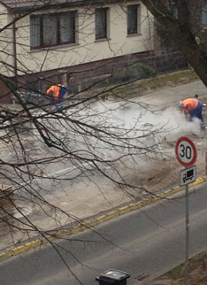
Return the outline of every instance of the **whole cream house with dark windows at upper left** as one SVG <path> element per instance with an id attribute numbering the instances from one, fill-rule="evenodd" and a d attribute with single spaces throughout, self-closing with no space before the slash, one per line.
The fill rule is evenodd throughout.
<path id="1" fill-rule="evenodd" d="M 152 19 L 141 1 L 0 1 L 0 32 L 0 73 L 16 86 L 38 76 L 50 83 L 55 74 L 66 82 L 68 71 L 153 50 Z"/>

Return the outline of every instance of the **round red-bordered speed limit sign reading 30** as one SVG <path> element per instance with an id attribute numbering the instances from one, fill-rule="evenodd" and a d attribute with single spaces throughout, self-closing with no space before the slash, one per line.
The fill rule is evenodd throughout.
<path id="1" fill-rule="evenodd" d="M 182 166 L 193 166 L 197 158 L 196 146 L 188 137 L 180 137 L 175 146 L 175 154 Z"/>

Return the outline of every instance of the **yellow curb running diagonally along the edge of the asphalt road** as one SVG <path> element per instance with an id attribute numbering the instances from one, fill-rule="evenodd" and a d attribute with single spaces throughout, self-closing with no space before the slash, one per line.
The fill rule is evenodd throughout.
<path id="1" fill-rule="evenodd" d="M 195 186 L 203 183 L 204 181 L 207 181 L 207 175 L 204 175 L 203 177 L 196 179 L 195 182 L 190 183 L 189 188 L 195 187 Z M 146 198 L 142 201 L 135 202 L 133 204 L 128 204 L 126 206 L 120 207 L 117 210 L 103 214 L 102 216 L 99 216 L 95 219 L 84 221 L 84 222 L 82 222 L 82 223 L 80 223 L 74 227 L 60 230 L 57 234 L 47 235 L 45 237 L 36 239 L 33 242 L 25 243 L 23 245 L 20 245 L 20 246 L 15 247 L 11 250 L 8 250 L 8 251 L 1 253 L 0 254 L 0 262 L 7 260 L 9 258 L 12 258 L 13 256 L 19 255 L 21 253 L 27 252 L 28 250 L 35 249 L 38 246 L 52 243 L 53 241 L 57 240 L 58 238 L 64 238 L 65 235 L 67 235 L 67 236 L 68 235 L 74 235 L 74 234 L 80 233 L 86 229 L 89 229 L 91 227 L 96 227 L 105 221 L 112 220 L 113 218 L 119 217 L 123 214 L 126 214 L 127 212 L 132 212 L 132 211 L 141 209 L 143 206 L 153 204 L 155 202 L 160 201 L 163 198 L 167 198 L 168 196 L 172 196 L 172 195 L 180 192 L 183 189 L 185 189 L 185 186 L 173 187 L 172 189 L 165 190 L 165 192 L 158 194 L 157 196 L 152 196 L 152 197 Z"/>

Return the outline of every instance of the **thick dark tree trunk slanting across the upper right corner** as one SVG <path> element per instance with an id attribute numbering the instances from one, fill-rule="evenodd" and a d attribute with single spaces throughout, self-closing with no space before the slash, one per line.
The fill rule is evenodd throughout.
<path id="1" fill-rule="evenodd" d="M 142 0 L 149 12 L 165 27 L 173 41 L 176 42 L 183 54 L 188 58 L 189 64 L 194 68 L 198 77 L 207 87 L 207 60 L 203 50 L 196 42 L 192 33 L 190 20 L 190 2 L 177 1 L 178 19 L 173 16 L 165 1 Z"/>

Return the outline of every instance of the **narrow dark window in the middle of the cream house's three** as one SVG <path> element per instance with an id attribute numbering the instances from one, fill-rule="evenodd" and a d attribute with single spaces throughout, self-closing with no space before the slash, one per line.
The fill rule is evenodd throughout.
<path id="1" fill-rule="evenodd" d="M 96 40 L 106 39 L 107 35 L 107 15 L 108 8 L 95 10 Z"/>

